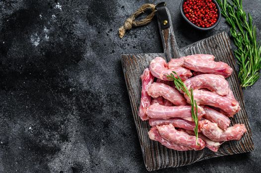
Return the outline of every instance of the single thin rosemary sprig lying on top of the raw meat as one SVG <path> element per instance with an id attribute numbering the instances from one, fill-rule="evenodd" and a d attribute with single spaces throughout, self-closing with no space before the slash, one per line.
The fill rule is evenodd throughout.
<path id="1" fill-rule="evenodd" d="M 174 74 L 177 75 L 178 78 L 175 78 Z M 197 119 L 197 104 L 196 104 L 196 100 L 194 100 L 194 96 L 193 96 L 193 89 L 191 88 L 191 91 L 189 91 L 189 89 L 186 87 L 186 85 L 182 82 L 182 80 L 180 79 L 179 75 L 172 71 L 172 73 L 170 75 L 167 75 L 167 78 L 171 81 L 174 82 L 175 86 L 177 87 L 177 89 L 179 91 L 183 90 L 188 97 L 190 97 L 190 102 L 191 102 L 191 115 L 192 115 L 192 119 L 195 122 L 195 128 L 194 128 L 194 132 L 195 132 L 195 136 L 196 136 L 196 144 L 197 143 L 197 138 L 198 138 L 198 127 L 197 127 L 197 123 L 198 123 L 198 119 Z"/>

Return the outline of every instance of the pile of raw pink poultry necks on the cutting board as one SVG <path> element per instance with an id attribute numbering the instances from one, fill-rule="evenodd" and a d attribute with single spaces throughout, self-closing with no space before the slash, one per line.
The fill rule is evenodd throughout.
<path id="1" fill-rule="evenodd" d="M 150 62 L 141 75 L 142 90 L 139 117 L 152 127 L 149 138 L 179 151 L 201 150 L 216 152 L 228 140 L 239 140 L 246 128 L 243 124 L 230 126 L 229 117 L 239 110 L 228 82 L 233 70 L 224 62 L 215 62 L 213 55 L 196 54 L 166 63 L 162 57 Z M 167 75 L 175 71 L 186 87 L 193 88 L 198 105 L 198 140 L 191 115 L 190 98 L 178 91 Z M 177 76 L 175 76 L 177 77 Z M 155 81 L 155 82 L 154 82 Z"/>

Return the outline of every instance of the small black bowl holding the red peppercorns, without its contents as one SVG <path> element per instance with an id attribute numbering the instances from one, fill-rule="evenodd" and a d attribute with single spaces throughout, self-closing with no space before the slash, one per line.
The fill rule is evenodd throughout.
<path id="1" fill-rule="evenodd" d="M 207 30 L 211 30 L 213 28 L 215 28 L 218 23 L 220 22 L 220 19 L 221 19 L 221 11 L 220 11 L 220 7 L 218 5 L 218 3 L 216 2 L 216 0 L 212 0 L 212 2 L 214 2 L 216 4 L 216 7 L 217 7 L 217 21 L 214 25 L 212 25 L 211 27 L 208 27 L 208 28 L 202 28 L 202 27 L 198 27 L 196 26 L 194 23 L 192 23 L 186 16 L 185 16 L 185 13 L 183 11 L 183 4 L 184 4 L 185 0 L 181 0 L 181 3 L 180 3 L 180 10 L 181 10 L 181 15 L 182 17 L 191 25 L 193 26 L 194 28 L 198 29 L 198 30 L 201 30 L 201 31 L 207 31 Z"/>

